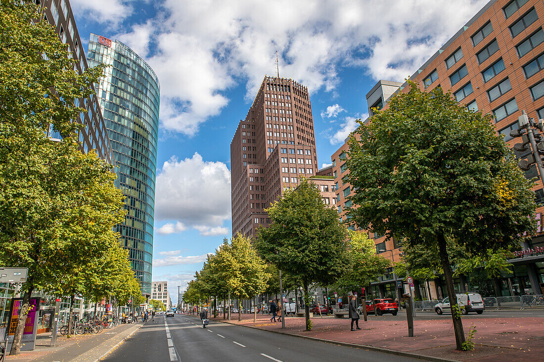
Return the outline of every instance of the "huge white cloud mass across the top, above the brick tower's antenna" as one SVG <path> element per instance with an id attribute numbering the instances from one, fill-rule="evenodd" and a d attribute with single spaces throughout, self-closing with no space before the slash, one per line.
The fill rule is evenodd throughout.
<path id="1" fill-rule="evenodd" d="M 165 0 L 152 24 L 120 39 L 144 52 L 153 39 L 147 61 L 160 80 L 162 129 L 194 135 L 225 107 L 224 92 L 235 82 L 246 82 L 246 98 L 255 96 L 264 74 L 276 73 L 275 51 L 280 75 L 310 91 L 334 94 L 346 65 L 374 79 L 403 80 L 486 2 Z M 123 4 L 95 3 L 86 4 Z"/>

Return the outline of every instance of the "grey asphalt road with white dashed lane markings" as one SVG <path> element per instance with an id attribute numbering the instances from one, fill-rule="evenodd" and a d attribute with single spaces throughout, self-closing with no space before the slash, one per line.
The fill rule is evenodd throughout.
<path id="1" fill-rule="evenodd" d="M 356 333 L 356 332 L 354 332 Z M 176 314 L 154 321 L 114 349 L 104 361 L 416 361 L 397 355 L 312 341 L 264 330 Z"/>

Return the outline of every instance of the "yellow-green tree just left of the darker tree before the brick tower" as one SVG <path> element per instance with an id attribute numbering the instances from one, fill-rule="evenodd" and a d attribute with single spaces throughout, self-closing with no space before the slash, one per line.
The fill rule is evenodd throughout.
<path id="1" fill-rule="evenodd" d="M 250 239 L 237 234 L 230 241 L 225 239 L 217 251 L 219 278 L 225 281 L 227 290 L 238 300 L 261 294 L 267 286 L 270 275 L 267 265 L 257 255 Z M 242 320 L 242 303 L 238 305 L 238 320 Z"/>

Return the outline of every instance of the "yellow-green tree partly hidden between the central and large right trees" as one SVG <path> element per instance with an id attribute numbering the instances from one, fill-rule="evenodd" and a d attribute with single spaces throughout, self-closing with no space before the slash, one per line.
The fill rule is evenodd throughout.
<path id="1" fill-rule="evenodd" d="M 334 287 L 338 290 L 353 290 L 357 286 L 367 286 L 384 274 L 391 262 L 376 254 L 374 241 L 367 233 L 348 230 L 348 271 L 338 279 Z"/>

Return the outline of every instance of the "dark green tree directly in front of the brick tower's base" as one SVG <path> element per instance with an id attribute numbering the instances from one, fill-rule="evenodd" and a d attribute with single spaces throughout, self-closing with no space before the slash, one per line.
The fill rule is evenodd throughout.
<path id="1" fill-rule="evenodd" d="M 258 229 L 255 245 L 265 260 L 301 280 L 306 329 L 311 329 L 308 285 L 332 284 L 345 272 L 346 228 L 336 210 L 323 204 L 316 186 L 304 178 L 267 212 L 270 227 Z"/>

